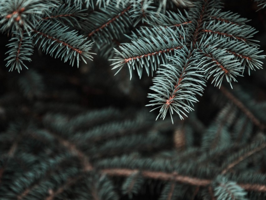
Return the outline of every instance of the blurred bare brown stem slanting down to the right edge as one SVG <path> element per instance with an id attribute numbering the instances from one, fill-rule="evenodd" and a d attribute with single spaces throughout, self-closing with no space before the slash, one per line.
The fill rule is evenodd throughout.
<path id="1" fill-rule="evenodd" d="M 260 129 L 265 129 L 265 125 L 262 124 L 254 115 L 253 113 L 248 110 L 245 105 L 239 101 L 232 93 L 230 93 L 225 87 L 221 86 L 220 91 L 229 99 L 231 100 L 256 126 Z"/>

